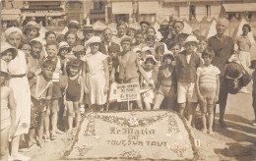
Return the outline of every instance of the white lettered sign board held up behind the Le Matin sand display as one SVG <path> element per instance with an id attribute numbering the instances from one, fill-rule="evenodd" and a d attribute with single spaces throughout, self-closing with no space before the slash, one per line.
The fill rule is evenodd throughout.
<path id="1" fill-rule="evenodd" d="M 138 82 L 117 85 L 117 102 L 140 99 L 140 85 Z"/>

